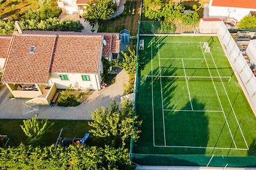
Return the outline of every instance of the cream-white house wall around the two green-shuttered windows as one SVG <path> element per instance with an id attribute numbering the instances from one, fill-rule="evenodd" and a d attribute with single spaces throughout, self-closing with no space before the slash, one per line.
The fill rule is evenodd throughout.
<path id="1" fill-rule="evenodd" d="M 60 74 L 68 76 L 68 80 L 61 80 Z M 82 75 L 89 75 L 90 81 L 83 81 Z M 81 89 L 100 90 L 99 74 L 88 73 L 51 73 L 51 81 L 56 84 L 57 89 L 67 89 L 68 86 Z"/>

